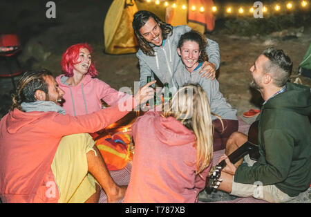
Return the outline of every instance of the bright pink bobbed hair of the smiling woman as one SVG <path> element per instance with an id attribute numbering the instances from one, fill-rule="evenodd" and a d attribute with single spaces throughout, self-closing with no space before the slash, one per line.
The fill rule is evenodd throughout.
<path id="1" fill-rule="evenodd" d="M 62 69 L 64 74 L 67 77 L 73 77 L 73 65 L 78 64 L 77 59 L 79 58 L 79 51 L 81 48 L 86 48 L 90 53 L 92 53 L 92 48 L 88 44 L 80 43 L 70 46 L 66 52 L 62 56 Z M 88 68 L 88 75 L 91 75 L 91 77 L 95 77 L 98 75 L 98 71 L 94 67 L 93 63 L 91 64 L 90 68 Z"/>

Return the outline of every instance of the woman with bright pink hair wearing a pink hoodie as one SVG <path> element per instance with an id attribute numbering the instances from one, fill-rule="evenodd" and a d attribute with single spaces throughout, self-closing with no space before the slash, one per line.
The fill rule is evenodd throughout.
<path id="1" fill-rule="evenodd" d="M 98 71 L 92 63 L 92 48 L 88 44 L 70 46 L 62 56 L 64 74 L 56 77 L 65 91 L 63 108 L 66 114 L 85 115 L 102 109 L 102 101 L 110 106 L 127 97 L 102 80 L 95 78 Z"/>

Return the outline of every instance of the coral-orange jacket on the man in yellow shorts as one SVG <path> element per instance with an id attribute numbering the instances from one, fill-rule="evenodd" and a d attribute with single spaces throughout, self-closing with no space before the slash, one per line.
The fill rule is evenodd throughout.
<path id="1" fill-rule="evenodd" d="M 50 166 L 62 137 L 93 133 L 127 113 L 116 105 L 76 117 L 56 112 L 25 113 L 18 109 L 5 115 L 0 122 L 1 200 L 57 202 L 59 192 Z"/>

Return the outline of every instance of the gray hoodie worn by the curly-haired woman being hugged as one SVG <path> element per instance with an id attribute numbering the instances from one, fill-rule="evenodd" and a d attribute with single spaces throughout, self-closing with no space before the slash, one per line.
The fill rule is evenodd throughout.
<path id="1" fill-rule="evenodd" d="M 178 88 L 185 84 L 199 84 L 207 95 L 212 113 L 219 115 L 223 119 L 238 120 L 236 117 L 236 109 L 232 109 L 232 106 L 227 103 L 225 97 L 223 97 L 223 94 L 219 91 L 219 83 L 217 79 L 206 79 L 199 74 L 201 65 L 202 64 L 199 64 L 192 73 L 189 73 L 185 68 L 185 65 L 182 64 L 182 61 L 180 61 L 180 65 L 175 73 Z M 212 120 L 217 119 L 214 115 L 212 115 L 211 118 Z"/>

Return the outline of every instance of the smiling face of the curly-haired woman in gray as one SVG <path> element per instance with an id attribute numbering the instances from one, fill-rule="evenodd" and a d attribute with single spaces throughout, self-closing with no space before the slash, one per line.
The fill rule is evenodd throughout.
<path id="1" fill-rule="evenodd" d="M 200 48 L 196 41 L 185 41 L 180 48 L 177 48 L 182 62 L 187 70 L 191 73 L 198 66 L 198 58 L 200 57 Z"/>

